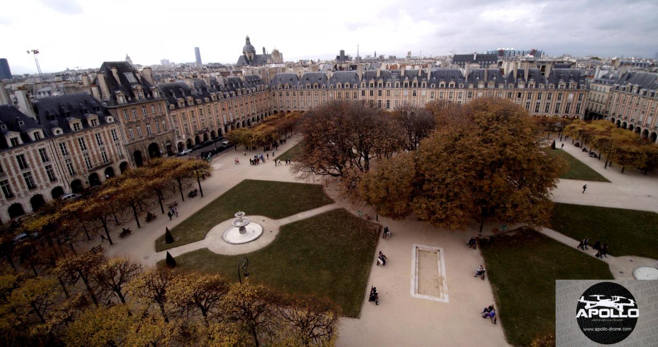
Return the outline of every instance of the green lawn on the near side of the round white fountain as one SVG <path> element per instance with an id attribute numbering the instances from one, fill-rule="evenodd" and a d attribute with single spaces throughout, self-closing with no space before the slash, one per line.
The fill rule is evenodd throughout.
<path id="1" fill-rule="evenodd" d="M 358 317 L 377 235 L 377 225 L 335 209 L 282 226 L 274 242 L 256 252 L 219 255 L 204 248 L 176 257 L 176 269 L 238 280 L 238 263 L 247 257 L 249 280 L 286 292 L 326 296 L 345 315 Z"/>

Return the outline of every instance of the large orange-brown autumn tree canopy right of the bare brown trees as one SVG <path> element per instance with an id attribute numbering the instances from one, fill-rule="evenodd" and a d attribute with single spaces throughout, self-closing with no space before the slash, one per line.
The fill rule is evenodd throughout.
<path id="1" fill-rule="evenodd" d="M 540 128 L 518 105 L 477 99 L 436 113 L 440 124 L 416 151 L 381 161 L 364 175 L 363 199 L 378 213 L 413 212 L 457 229 L 470 219 L 545 225 L 550 194 L 565 169 L 538 146 Z"/>

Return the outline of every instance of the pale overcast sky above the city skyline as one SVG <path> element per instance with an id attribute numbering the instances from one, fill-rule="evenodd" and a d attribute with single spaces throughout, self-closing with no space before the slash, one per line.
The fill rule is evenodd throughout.
<path id="1" fill-rule="evenodd" d="M 286 61 L 448 55 L 500 47 L 549 55 L 649 57 L 658 53 L 658 1 L 5 0 L 0 58 L 14 74 L 98 68 L 103 61 L 236 63 L 249 35 Z"/>

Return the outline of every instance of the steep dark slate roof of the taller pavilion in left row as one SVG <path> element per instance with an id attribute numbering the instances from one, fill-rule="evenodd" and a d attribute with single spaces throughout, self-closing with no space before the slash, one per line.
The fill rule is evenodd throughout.
<path id="1" fill-rule="evenodd" d="M 116 77 L 112 68 L 116 68 Z M 116 92 L 123 92 L 126 95 L 126 103 L 122 105 L 160 99 L 159 97 L 153 97 L 153 93 L 151 93 L 153 86 L 146 78 L 140 76 L 138 71 L 125 61 L 106 61 L 101 65 L 100 73 L 105 74 L 105 82 L 110 92 L 110 99 L 103 100 L 108 106 L 119 105 L 116 100 Z M 118 80 L 116 80 L 117 77 Z M 142 100 L 139 100 L 134 92 L 134 87 L 138 85 L 141 86 L 143 92 Z"/>

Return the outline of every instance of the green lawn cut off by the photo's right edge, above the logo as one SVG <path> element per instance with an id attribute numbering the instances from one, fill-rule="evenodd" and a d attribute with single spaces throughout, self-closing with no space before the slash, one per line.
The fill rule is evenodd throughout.
<path id="1" fill-rule="evenodd" d="M 555 203 L 551 225 L 574 240 L 589 238 L 590 246 L 607 242 L 611 255 L 658 259 L 658 213 Z"/>

